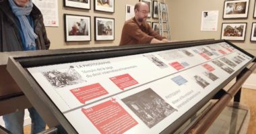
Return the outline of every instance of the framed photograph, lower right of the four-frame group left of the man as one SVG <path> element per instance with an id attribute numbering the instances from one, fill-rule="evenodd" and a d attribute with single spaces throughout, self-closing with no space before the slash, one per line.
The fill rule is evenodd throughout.
<path id="1" fill-rule="evenodd" d="M 115 40 L 115 19 L 94 17 L 95 40 Z"/>

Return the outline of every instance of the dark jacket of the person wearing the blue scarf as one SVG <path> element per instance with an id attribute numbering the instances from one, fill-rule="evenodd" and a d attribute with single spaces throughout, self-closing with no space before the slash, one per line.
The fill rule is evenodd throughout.
<path id="1" fill-rule="evenodd" d="M 34 32 L 37 50 L 46 50 L 50 47 L 50 41 L 46 36 L 42 13 L 33 5 L 30 13 L 34 20 Z M 8 0 L 0 0 L 0 52 L 23 51 L 22 40 L 18 25 L 15 23 L 15 15 L 11 11 Z"/>

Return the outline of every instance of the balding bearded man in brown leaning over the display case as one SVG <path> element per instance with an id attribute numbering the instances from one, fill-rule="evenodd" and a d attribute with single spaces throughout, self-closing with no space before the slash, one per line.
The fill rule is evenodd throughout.
<path id="1" fill-rule="evenodd" d="M 120 46 L 131 44 L 156 44 L 168 42 L 160 36 L 146 22 L 149 7 L 146 3 L 139 2 L 134 7 L 135 17 L 125 21 L 120 41 Z"/>

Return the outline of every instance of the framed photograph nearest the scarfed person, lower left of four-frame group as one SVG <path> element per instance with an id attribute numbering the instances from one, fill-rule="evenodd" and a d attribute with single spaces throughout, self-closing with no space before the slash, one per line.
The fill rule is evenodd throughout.
<path id="1" fill-rule="evenodd" d="M 64 14 L 65 42 L 90 41 L 91 17 Z"/>

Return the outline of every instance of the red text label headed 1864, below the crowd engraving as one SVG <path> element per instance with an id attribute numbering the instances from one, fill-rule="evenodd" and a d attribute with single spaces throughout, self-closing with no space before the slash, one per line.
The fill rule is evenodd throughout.
<path id="1" fill-rule="evenodd" d="M 79 102 L 83 104 L 88 100 L 108 94 L 108 92 L 99 83 L 75 88 L 70 91 L 75 95 Z"/>

